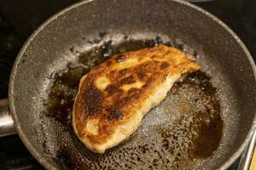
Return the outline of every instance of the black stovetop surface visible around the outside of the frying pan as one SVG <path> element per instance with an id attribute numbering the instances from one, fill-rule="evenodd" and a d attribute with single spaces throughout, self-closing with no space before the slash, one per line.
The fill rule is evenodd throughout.
<path id="1" fill-rule="evenodd" d="M 78 0 L 0 1 L 0 99 L 8 96 L 9 74 L 22 44 L 44 20 Z M 254 0 L 196 3 L 230 26 L 256 59 Z M 230 170 L 236 170 L 237 160 Z M 0 139 L 0 169 L 44 169 L 26 150 L 18 135 Z"/>

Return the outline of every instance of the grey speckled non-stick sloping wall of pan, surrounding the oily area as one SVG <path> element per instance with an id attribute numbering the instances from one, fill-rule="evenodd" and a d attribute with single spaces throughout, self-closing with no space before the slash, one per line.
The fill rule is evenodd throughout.
<path id="1" fill-rule="evenodd" d="M 60 139 L 79 155 L 86 154 L 58 122 L 44 115 L 53 72 L 75 54 L 86 51 L 99 32 L 113 41 L 122 35 L 137 39 L 157 35 L 183 42 L 201 56 L 202 70 L 219 89 L 224 134 L 218 150 L 198 168 L 225 169 L 245 148 L 255 127 L 255 65 L 229 28 L 200 8 L 179 1 L 96 0 L 78 3 L 40 26 L 21 49 L 11 76 L 10 110 L 20 138 L 42 165 L 59 168 Z M 73 51 L 73 50 L 72 50 Z M 150 117 L 150 116 L 149 116 Z M 153 117 L 154 118 L 154 117 Z M 81 149 L 81 150 L 78 150 Z M 73 165 L 75 168 L 76 164 Z M 90 167 L 90 165 L 88 165 Z"/>

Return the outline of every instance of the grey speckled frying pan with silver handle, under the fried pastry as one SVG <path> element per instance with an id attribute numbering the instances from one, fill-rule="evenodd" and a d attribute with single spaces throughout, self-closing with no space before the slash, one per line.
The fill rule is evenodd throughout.
<path id="1" fill-rule="evenodd" d="M 213 91 L 218 96 L 219 116 L 223 120 L 221 139 L 212 154 L 191 157 L 190 152 L 184 152 L 193 148 L 183 141 L 187 133 L 193 135 L 184 130 L 186 122 L 176 126 L 175 117 L 172 117 L 174 122 L 161 118 L 169 112 L 175 114 L 172 101 L 185 105 L 183 100 L 172 99 L 177 96 L 175 93 L 149 111 L 137 133 L 104 155 L 87 150 L 68 123 L 71 117 L 61 115 L 72 110 L 72 105 L 67 105 L 62 112 L 51 107 L 59 105 L 56 98 L 73 96 L 80 75 L 115 53 L 110 46 L 138 47 L 140 45 L 133 45 L 137 42 L 174 44 L 193 55 L 201 64 L 201 70 L 211 77 L 209 83 L 218 89 Z M 125 43 L 125 46 L 119 45 Z M 103 53 L 101 59 L 96 57 L 99 51 Z M 74 71 L 76 68 L 84 70 Z M 65 77 L 67 74 L 75 78 Z M 55 84 L 62 91 L 53 89 Z M 241 155 L 252 137 L 255 87 L 255 65 L 247 48 L 230 28 L 203 9 L 171 0 L 84 1 L 47 20 L 20 50 L 10 77 L 9 105 L 8 100 L 1 101 L 0 129 L 2 135 L 12 133 L 13 119 L 20 139 L 47 169 L 226 169 Z M 201 118 L 204 120 L 204 116 Z M 194 122 L 190 123 L 192 126 Z M 216 127 L 218 124 L 212 125 Z M 176 136 L 159 137 L 161 133 L 175 133 L 173 129 L 178 128 L 183 130 L 177 130 Z M 201 131 L 202 135 L 215 138 L 211 132 Z M 167 138 L 172 138 L 172 143 L 165 143 Z M 211 147 L 211 141 L 202 138 L 198 146 L 205 150 L 207 143 Z M 170 147 L 171 151 L 166 150 Z"/>

